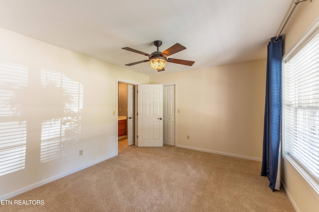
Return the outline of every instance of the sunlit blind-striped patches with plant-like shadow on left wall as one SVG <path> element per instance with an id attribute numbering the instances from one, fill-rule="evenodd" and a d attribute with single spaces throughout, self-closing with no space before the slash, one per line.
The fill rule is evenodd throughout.
<path id="1" fill-rule="evenodd" d="M 40 75 L 39 86 L 30 86 L 28 67 L 0 62 L 0 176 L 25 168 L 27 145 L 40 149 L 40 163 L 77 150 L 83 86 L 60 72 Z M 29 140 L 38 132 L 39 142 Z"/>

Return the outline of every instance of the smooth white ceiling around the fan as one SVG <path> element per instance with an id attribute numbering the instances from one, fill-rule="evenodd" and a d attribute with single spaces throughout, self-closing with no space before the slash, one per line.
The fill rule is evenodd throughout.
<path id="1" fill-rule="evenodd" d="M 0 0 L 0 27 L 146 75 L 266 58 L 295 0 Z M 175 43 L 187 49 L 158 73 L 125 66 Z M 170 56 L 169 56 L 170 57 Z M 168 58 L 169 58 L 168 57 Z"/>

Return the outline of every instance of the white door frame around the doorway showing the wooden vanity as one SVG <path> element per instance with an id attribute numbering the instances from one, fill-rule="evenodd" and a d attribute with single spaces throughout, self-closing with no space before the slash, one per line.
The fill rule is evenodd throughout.
<path id="1" fill-rule="evenodd" d="M 118 136 L 118 131 L 119 131 L 119 126 L 118 126 L 118 119 L 119 119 L 119 111 L 118 111 L 118 108 L 119 108 L 119 83 L 126 83 L 126 84 L 130 84 L 130 85 L 134 85 L 135 86 L 135 108 L 137 108 L 137 86 L 139 85 L 139 83 L 137 82 L 132 82 L 132 81 L 128 81 L 128 80 L 122 80 L 122 79 L 118 79 L 116 78 L 116 108 L 115 108 L 115 125 L 116 125 L 116 139 L 115 139 L 115 142 L 116 142 L 116 145 L 115 145 L 115 154 L 118 155 L 119 154 L 119 136 Z M 135 111 L 136 113 L 136 111 Z M 136 116 L 137 117 L 137 116 Z M 137 127 L 137 118 L 135 118 L 135 122 L 134 122 L 134 125 L 135 125 L 135 145 L 137 145 L 137 139 L 136 139 L 136 135 L 137 135 L 137 130 L 138 130 L 138 127 Z"/>

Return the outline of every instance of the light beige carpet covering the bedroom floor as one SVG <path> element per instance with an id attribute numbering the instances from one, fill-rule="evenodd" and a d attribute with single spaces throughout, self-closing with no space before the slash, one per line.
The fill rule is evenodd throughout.
<path id="1" fill-rule="evenodd" d="M 170 145 L 128 146 L 119 155 L 10 200 L 5 212 L 293 212 L 272 192 L 261 162 Z"/>

